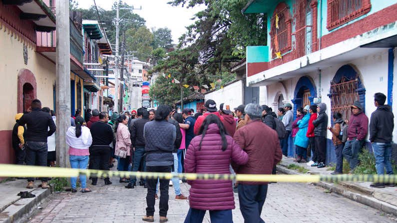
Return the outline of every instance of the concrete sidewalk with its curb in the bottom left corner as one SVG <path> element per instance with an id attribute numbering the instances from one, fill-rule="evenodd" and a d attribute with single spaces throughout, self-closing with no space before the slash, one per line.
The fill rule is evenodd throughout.
<path id="1" fill-rule="evenodd" d="M 40 180 L 34 181 L 34 188 L 26 188 L 26 180 L 6 179 L 0 183 L 0 223 L 13 223 L 23 215 L 29 214 L 36 209 L 45 198 L 54 193 L 53 186 L 50 189 L 41 189 Z M 27 191 L 34 198 L 20 198 L 19 192 Z"/>

